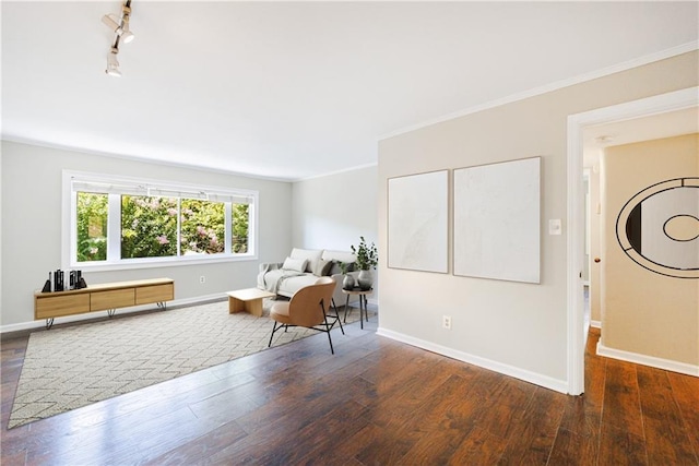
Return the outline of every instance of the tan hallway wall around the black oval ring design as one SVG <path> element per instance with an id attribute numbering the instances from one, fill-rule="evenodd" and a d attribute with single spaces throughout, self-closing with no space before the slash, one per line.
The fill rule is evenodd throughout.
<path id="1" fill-rule="evenodd" d="M 604 347 L 699 365 L 699 279 L 650 272 L 619 247 L 616 220 L 643 189 L 699 176 L 699 135 L 607 147 L 602 157 L 605 216 L 602 279 Z"/>

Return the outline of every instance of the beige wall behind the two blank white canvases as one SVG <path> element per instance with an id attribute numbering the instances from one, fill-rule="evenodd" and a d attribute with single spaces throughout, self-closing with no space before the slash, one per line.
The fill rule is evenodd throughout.
<path id="1" fill-rule="evenodd" d="M 567 249 L 547 222 L 567 218 L 567 118 L 692 87 L 696 51 L 466 115 L 379 143 L 379 250 L 386 258 L 387 180 L 411 174 L 542 157 L 541 284 L 413 271 L 380 262 L 380 332 L 495 367 L 545 386 L 567 382 Z M 450 239 L 451 243 L 451 239 Z M 451 247 L 450 252 L 451 255 Z M 452 328 L 441 318 L 452 318 Z"/>

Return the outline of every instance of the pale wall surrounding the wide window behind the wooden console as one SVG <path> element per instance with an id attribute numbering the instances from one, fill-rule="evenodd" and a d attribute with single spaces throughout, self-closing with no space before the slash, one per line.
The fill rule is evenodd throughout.
<path id="1" fill-rule="evenodd" d="M 34 321 L 33 294 L 61 266 L 62 170 L 81 170 L 258 190 L 258 260 L 205 265 L 87 272 L 87 283 L 170 277 L 175 299 L 222 295 L 256 285 L 259 262 L 285 258 L 292 248 L 292 183 L 147 164 L 123 158 L 2 142 L 1 308 L 2 331 Z M 206 277 L 205 284 L 199 276 Z M 24 325 L 26 324 L 26 325 Z"/>

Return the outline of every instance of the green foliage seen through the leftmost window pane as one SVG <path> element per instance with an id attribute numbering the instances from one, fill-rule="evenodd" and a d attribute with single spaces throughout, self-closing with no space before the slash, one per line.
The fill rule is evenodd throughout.
<path id="1" fill-rule="evenodd" d="M 78 193 L 78 262 L 107 259 L 108 195 Z"/>

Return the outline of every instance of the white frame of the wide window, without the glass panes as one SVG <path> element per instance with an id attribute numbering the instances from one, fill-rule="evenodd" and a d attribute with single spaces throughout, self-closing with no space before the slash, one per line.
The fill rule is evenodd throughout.
<path id="1" fill-rule="evenodd" d="M 133 258 L 121 259 L 120 256 L 120 242 L 121 242 L 121 211 L 116 208 L 116 203 L 108 202 L 108 215 L 107 215 L 107 260 L 94 261 L 94 262 L 78 262 L 78 191 L 73 190 L 73 182 L 85 182 L 105 186 L 133 186 L 143 189 L 153 190 L 167 190 L 167 191 L 180 191 L 185 193 L 206 193 L 212 196 L 229 196 L 229 198 L 246 198 L 248 200 L 248 251 L 245 253 L 232 252 L 232 235 L 233 235 L 233 218 L 232 218 L 232 205 L 234 201 L 225 202 L 225 238 L 226 250 L 230 252 L 222 252 L 216 254 L 192 254 L 192 255 L 174 255 L 165 258 Z M 105 189 L 107 191 L 107 189 Z M 106 194 L 121 196 L 121 193 Z M 169 195 L 154 195 L 166 198 Z M 187 196 L 179 196 L 179 199 L 187 199 Z M 214 201 L 215 202 L 215 201 Z M 221 201 L 218 201 L 221 202 Z M 216 186 L 192 184 L 179 181 L 166 181 L 149 178 L 135 178 L 126 176 L 114 176 L 104 174 L 93 174 L 74 170 L 63 170 L 62 172 L 62 203 L 61 203 L 61 264 L 64 270 L 82 270 L 90 272 L 103 272 L 103 271 L 118 271 L 129 268 L 149 268 L 149 267 L 166 267 L 166 266 L 180 266 L 191 264 L 212 264 L 220 262 L 240 262 L 240 261 L 256 261 L 258 259 L 258 226 L 259 226 L 259 192 L 248 189 L 230 189 Z M 119 202 L 120 204 L 120 202 Z M 178 202 L 178 205 L 180 203 Z M 178 213 L 178 234 L 180 227 L 180 218 Z M 116 238 L 112 232 L 118 231 Z M 180 251 L 178 244 L 178 253 Z M 115 258 L 117 258 L 115 260 Z"/>

